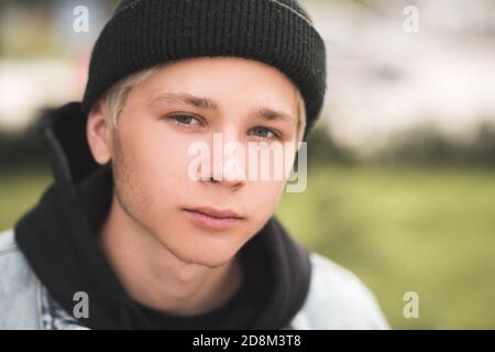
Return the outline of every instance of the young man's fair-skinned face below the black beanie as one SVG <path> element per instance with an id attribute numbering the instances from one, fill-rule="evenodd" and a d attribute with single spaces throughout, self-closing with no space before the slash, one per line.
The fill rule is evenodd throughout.
<path id="1" fill-rule="evenodd" d="M 91 112 L 90 120 L 97 118 Z M 285 179 L 232 179 L 220 164 L 234 162 L 249 176 L 249 154 L 222 156 L 220 151 L 215 157 L 213 133 L 220 133 L 223 146 L 235 142 L 245 151 L 250 142 L 296 143 L 298 119 L 296 87 L 277 69 L 244 58 L 191 58 L 162 66 L 136 85 L 117 130 L 101 123 L 108 139 L 88 140 L 97 161 L 105 162 L 105 153 L 112 160 L 116 196 L 128 216 L 177 257 L 218 266 L 263 228 Z M 198 155 L 188 150 L 198 142 L 209 147 L 217 180 L 191 178 Z M 294 161 L 295 151 L 288 157 Z M 258 168 L 267 166 L 261 163 Z M 215 210 L 238 218 L 205 216 Z"/>

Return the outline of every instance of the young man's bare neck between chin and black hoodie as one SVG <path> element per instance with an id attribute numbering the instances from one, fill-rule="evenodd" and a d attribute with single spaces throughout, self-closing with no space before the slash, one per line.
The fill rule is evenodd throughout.
<path id="1" fill-rule="evenodd" d="M 116 196 L 99 239 L 128 294 L 155 310 L 201 314 L 221 306 L 241 285 L 239 257 L 213 268 L 186 263 L 129 217 Z"/>

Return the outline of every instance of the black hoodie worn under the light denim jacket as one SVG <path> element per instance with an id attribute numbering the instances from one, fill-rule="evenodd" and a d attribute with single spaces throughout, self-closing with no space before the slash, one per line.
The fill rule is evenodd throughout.
<path id="1" fill-rule="evenodd" d="M 68 312 L 76 292 L 89 297 L 92 329 L 280 329 L 301 308 L 311 274 L 309 253 L 275 217 L 238 253 L 245 280 L 223 307 L 176 317 L 146 309 L 124 290 L 98 245 L 112 197 L 110 165 L 98 166 L 86 117 L 70 102 L 43 117 L 54 184 L 15 224 L 15 239 L 38 279 Z"/>

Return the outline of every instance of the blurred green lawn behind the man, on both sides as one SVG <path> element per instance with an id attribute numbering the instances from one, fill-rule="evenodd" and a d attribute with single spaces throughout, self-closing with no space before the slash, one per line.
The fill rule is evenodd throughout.
<path id="1" fill-rule="evenodd" d="M 51 183 L 45 169 L 0 174 L 0 229 Z M 310 249 L 353 271 L 395 329 L 495 328 L 495 173 L 413 166 L 319 166 L 277 216 Z M 406 292 L 419 318 L 403 316 Z"/>

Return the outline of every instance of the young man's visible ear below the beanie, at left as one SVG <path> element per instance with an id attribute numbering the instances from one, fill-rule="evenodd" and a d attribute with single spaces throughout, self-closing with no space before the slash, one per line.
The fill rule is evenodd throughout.
<path id="1" fill-rule="evenodd" d="M 105 117 L 105 103 L 99 100 L 89 111 L 86 124 L 89 150 L 100 165 L 107 164 L 111 158 L 111 127 Z"/>

